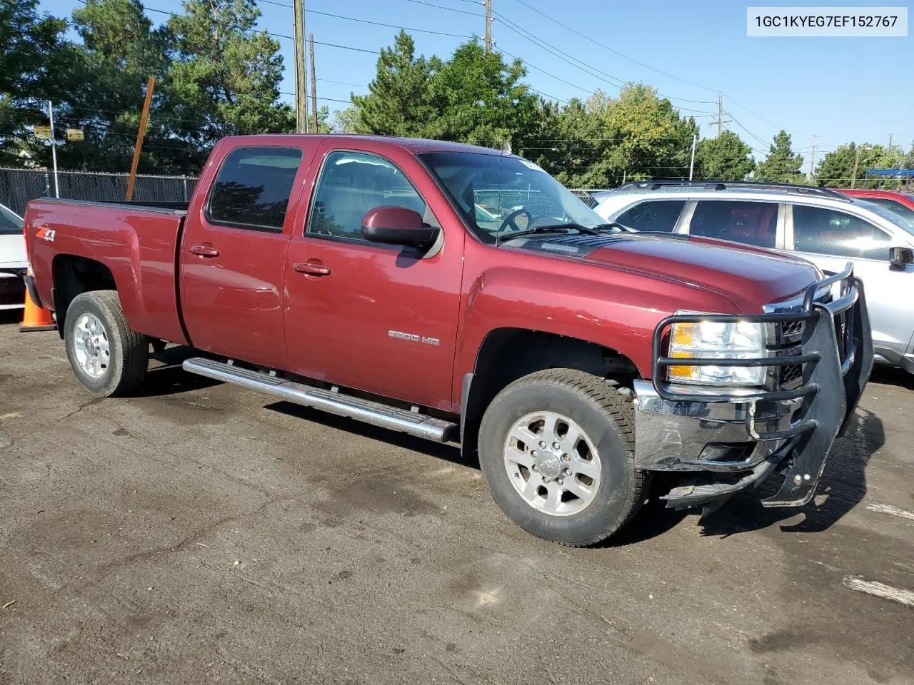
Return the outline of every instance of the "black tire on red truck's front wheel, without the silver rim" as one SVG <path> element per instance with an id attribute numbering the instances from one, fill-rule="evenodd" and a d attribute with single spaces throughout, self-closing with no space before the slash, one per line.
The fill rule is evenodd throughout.
<path id="1" fill-rule="evenodd" d="M 565 516 L 540 511 L 515 490 L 505 469 L 505 440 L 522 416 L 554 411 L 581 427 L 600 459 L 600 485 L 585 509 Z M 641 508 L 645 474 L 634 469 L 634 412 L 611 385 L 574 369 L 529 374 L 495 396 L 479 430 L 479 462 L 502 511 L 537 537 L 574 547 L 600 543 Z M 602 474 L 606 474 L 605 476 Z"/>

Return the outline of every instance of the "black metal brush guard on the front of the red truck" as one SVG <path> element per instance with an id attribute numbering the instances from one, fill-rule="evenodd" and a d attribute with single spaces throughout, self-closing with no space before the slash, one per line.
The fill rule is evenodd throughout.
<path id="1" fill-rule="evenodd" d="M 832 301 L 816 300 L 816 294 L 840 283 L 840 296 Z M 768 507 L 801 506 L 813 498 L 834 438 L 842 435 L 854 415 L 873 369 L 873 339 L 866 311 L 863 283 L 854 276 L 853 265 L 817 281 L 806 289 L 802 306 L 758 315 L 733 314 L 675 314 L 666 317 L 654 330 L 654 389 L 665 400 L 674 402 L 738 402 L 746 403 L 746 430 L 757 440 L 782 440 L 784 444 L 747 473 L 738 484 L 704 486 L 699 491 L 687 489 L 681 496 L 668 496 L 672 506 L 696 506 L 714 501 L 759 484 L 781 462 L 786 463 L 781 490 L 762 503 Z M 735 323 L 792 323 L 803 321 L 799 355 L 758 357 L 752 359 L 698 359 L 666 357 L 662 354 L 664 333 L 674 323 L 718 321 Z M 839 339 L 838 330 L 841 331 Z M 774 386 L 773 390 L 755 388 L 724 389 L 700 386 L 700 392 L 690 392 L 687 385 L 664 383 L 664 370 L 669 366 L 747 366 L 781 367 L 802 364 L 802 385 L 792 389 Z M 779 374 L 776 374 L 776 377 Z M 784 430 L 756 431 L 759 403 L 801 400 L 791 426 Z"/>

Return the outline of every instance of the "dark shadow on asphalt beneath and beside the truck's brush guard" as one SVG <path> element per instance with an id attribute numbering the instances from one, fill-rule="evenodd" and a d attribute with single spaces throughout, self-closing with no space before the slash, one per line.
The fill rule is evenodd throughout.
<path id="1" fill-rule="evenodd" d="M 781 523 L 782 532 L 824 532 L 839 522 L 866 495 L 866 467 L 886 442 L 882 420 L 857 408 L 844 437 L 834 442 L 813 501 L 803 507 L 766 509 L 761 499 L 773 495 L 780 480 L 741 493 L 701 521 L 704 535 L 729 536 Z M 802 521 L 782 523 L 803 514 Z"/>

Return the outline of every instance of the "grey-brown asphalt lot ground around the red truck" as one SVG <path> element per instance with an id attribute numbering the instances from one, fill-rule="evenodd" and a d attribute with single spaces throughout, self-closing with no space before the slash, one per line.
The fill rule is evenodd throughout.
<path id="1" fill-rule="evenodd" d="M 457 448 L 175 366 L 92 399 L 7 315 L 0 683 L 912 683 L 912 406 L 877 371 L 801 510 L 575 550 Z"/>

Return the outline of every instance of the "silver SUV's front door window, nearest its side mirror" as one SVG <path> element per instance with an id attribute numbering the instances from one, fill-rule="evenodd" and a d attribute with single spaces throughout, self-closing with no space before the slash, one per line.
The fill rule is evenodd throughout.
<path id="1" fill-rule="evenodd" d="M 793 205 L 793 249 L 837 257 L 888 259 L 890 237 L 835 209 Z"/>

